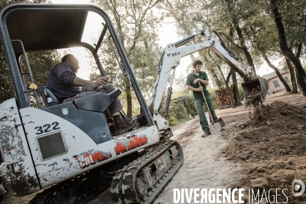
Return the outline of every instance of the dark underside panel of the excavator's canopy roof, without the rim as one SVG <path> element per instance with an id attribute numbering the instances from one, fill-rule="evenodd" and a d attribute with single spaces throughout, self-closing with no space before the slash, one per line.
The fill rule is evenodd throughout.
<path id="1" fill-rule="evenodd" d="M 11 39 L 21 40 L 27 52 L 74 47 L 80 45 L 86 16 L 84 11 L 17 10 L 8 15 L 7 26 Z"/>

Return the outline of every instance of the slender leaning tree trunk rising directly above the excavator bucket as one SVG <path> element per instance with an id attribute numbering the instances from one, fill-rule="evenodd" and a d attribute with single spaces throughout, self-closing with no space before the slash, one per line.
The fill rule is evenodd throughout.
<path id="1" fill-rule="evenodd" d="M 252 66 L 253 68 L 253 71 L 254 71 L 254 74 L 256 75 L 256 70 L 255 70 L 255 66 L 254 66 L 254 63 L 253 63 L 253 59 L 250 55 L 250 53 L 248 52 L 248 49 L 245 45 L 245 39 L 243 37 L 243 34 L 242 34 L 242 31 L 241 31 L 241 28 L 240 28 L 240 25 L 239 25 L 239 20 L 237 18 L 237 16 L 234 14 L 234 11 L 233 11 L 233 3 L 230 1 L 230 0 L 225 0 L 225 2 L 227 3 L 227 8 L 228 8 L 228 11 L 230 12 L 230 15 L 231 15 L 231 18 L 233 20 L 233 23 L 234 23 L 234 28 L 236 30 L 236 33 L 238 35 L 238 38 L 239 38 L 239 42 L 240 42 L 240 45 L 242 47 L 242 51 L 246 57 L 246 60 L 249 64 L 249 66 Z"/>

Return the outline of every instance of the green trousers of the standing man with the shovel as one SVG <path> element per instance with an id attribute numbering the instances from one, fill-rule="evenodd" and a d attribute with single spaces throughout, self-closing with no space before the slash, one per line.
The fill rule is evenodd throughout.
<path id="1" fill-rule="evenodd" d="M 218 117 L 217 117 L 217 115 L 215 113 L 215 109 L 214 109 L 214 104 L 213 104 L 212 98 L 210 97 L 210 95 L 205 96 L 205 98 L 206 98 L 209 110 L 211 111 L 211 114 L 213 116 L 214 122 L 218 122 Z M 203 111 L 203 105 L 205 106 L 205 101 L 204 101 L 203 97 L 195 98 L 194 99 L 194 104 L 195 104 L 196 111 L 198 112 L 198 115 L 199 115 L 199 119 L 200 119 L 200 124 L 201 124 L 202 130 L 204 132 L 209 131 L 208 121 L 207 121 L 205 113 Z"/>

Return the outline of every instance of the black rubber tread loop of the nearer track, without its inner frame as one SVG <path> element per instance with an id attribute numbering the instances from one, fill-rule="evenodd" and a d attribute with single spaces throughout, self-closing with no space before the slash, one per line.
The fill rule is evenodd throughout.
<path id="1" fill-rule="evenodd" d="M 159 159 L 160 156 L 166 152 L 171 146 L 175 145 L 176 149 L 179 151 L 179 155 L 176 158 L 176 161 L 173 161 L 173 165 L 167 170 L 165 175 L 155 184 L 155 186 L 148 190 L 147 194 L 144 197 L 138 195 L 135 180 L 137 178 L 137 173 L 144 167 L 146 164 Z M 165 142 L 147 154 L 133 161 L 127 166 L 124 166 L 123 169 L 118 171 L 118 173 L 113 177 L 111 184 L 111 193 L 113 194 L 113 199 L 117 203 L 141 203 L 149 204 L 154 201 L 158 194 L 163 190 L 166 184 L 172 179 L 175 172 L 183 165 L 184 156 L 180 144 L 175 141 Z"/>

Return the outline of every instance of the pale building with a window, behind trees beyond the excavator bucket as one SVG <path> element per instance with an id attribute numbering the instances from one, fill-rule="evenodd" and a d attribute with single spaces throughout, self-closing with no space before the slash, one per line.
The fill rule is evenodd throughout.
<path id="1" fill-rule="evenodd" d="M 290 80 L 289 71 L 285 71 L 284 69 L 279 69 L 279 72 L 281 72 L 283 78 L 290 86 L 291 80 Z M 278 91 L 282 91 L 285 89 L 284 84 L 281 82 L 281 80 L 279 80 L 279 78 L 277 77 L 274 71 L 263 75 L 262 78 L 265 78 L 269 83 L 269 93 L 276 93 Z"/>

